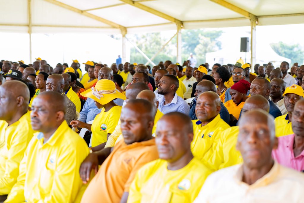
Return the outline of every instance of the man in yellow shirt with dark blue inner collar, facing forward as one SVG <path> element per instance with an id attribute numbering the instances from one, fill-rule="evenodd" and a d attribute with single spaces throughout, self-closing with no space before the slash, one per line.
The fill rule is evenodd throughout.
<path id="1" fill-rule="evenodd" d="M 198 120 L 193 120 L 194 137 L 191 143 L 193 155 L 200 160 L 215 140 L 219 139 L 223 130 L 230 126 L 221 119 L 221 100 L 215 92 L 204 92 L 199 95 L 196 101 L 195 114 Z"/>

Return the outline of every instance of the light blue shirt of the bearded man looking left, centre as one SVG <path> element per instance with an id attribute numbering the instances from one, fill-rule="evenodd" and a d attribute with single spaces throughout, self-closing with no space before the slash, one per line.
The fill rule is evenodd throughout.
<path id="1" fill-rule="evenodd" d="M 181 112 L 183 114 L 186 114 L 187 116 L 189 115 L 189 105 L 180 96 L 177 96 L 177 94 L 174 95 L 171 103 L 168 103 L 166 105 L 164 105 L 164 96 L 161 97 L 158 101 L 158 110 L 160 110 L 163 114 L 168 114 L 170 112 Z"/>

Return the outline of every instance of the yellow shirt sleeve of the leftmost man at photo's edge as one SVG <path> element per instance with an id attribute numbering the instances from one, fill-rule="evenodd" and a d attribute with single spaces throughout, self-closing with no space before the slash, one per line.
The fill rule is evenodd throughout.
<path id="1" fill-rule="evenodd" d="M 29 132 L 20 131 L 12 135 L 11 142 L 8 143 L 8 157 L 5 163 L 5 174 L 0 177 L 0 194 L 9 194 L 19 175 L 19 163 L 28 144 Z"/>

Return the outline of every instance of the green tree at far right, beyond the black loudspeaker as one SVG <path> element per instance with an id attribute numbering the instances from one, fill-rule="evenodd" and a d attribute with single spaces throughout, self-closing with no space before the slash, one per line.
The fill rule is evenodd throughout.
<path id="1" fill-rule="evenodd" d="M 280 56 L 290 58 L 292 64 L 296 62 L 299 64 L 303 63 L 304 51 L 299 44 L 289 45 L 280 41 L 278 43 L 272 43 L 270 46 Z"/>

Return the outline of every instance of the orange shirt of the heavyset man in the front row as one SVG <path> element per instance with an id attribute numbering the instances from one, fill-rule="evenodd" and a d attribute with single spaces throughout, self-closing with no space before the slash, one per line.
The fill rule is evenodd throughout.
<path id="1" fill-rule="evenodd" d="M 130 145 L 118 142 L 89 183 L 81 202 L 120 202 L 123 193 L 129 192 L 137 170 L 157 158 L 154 139 Z"/>

